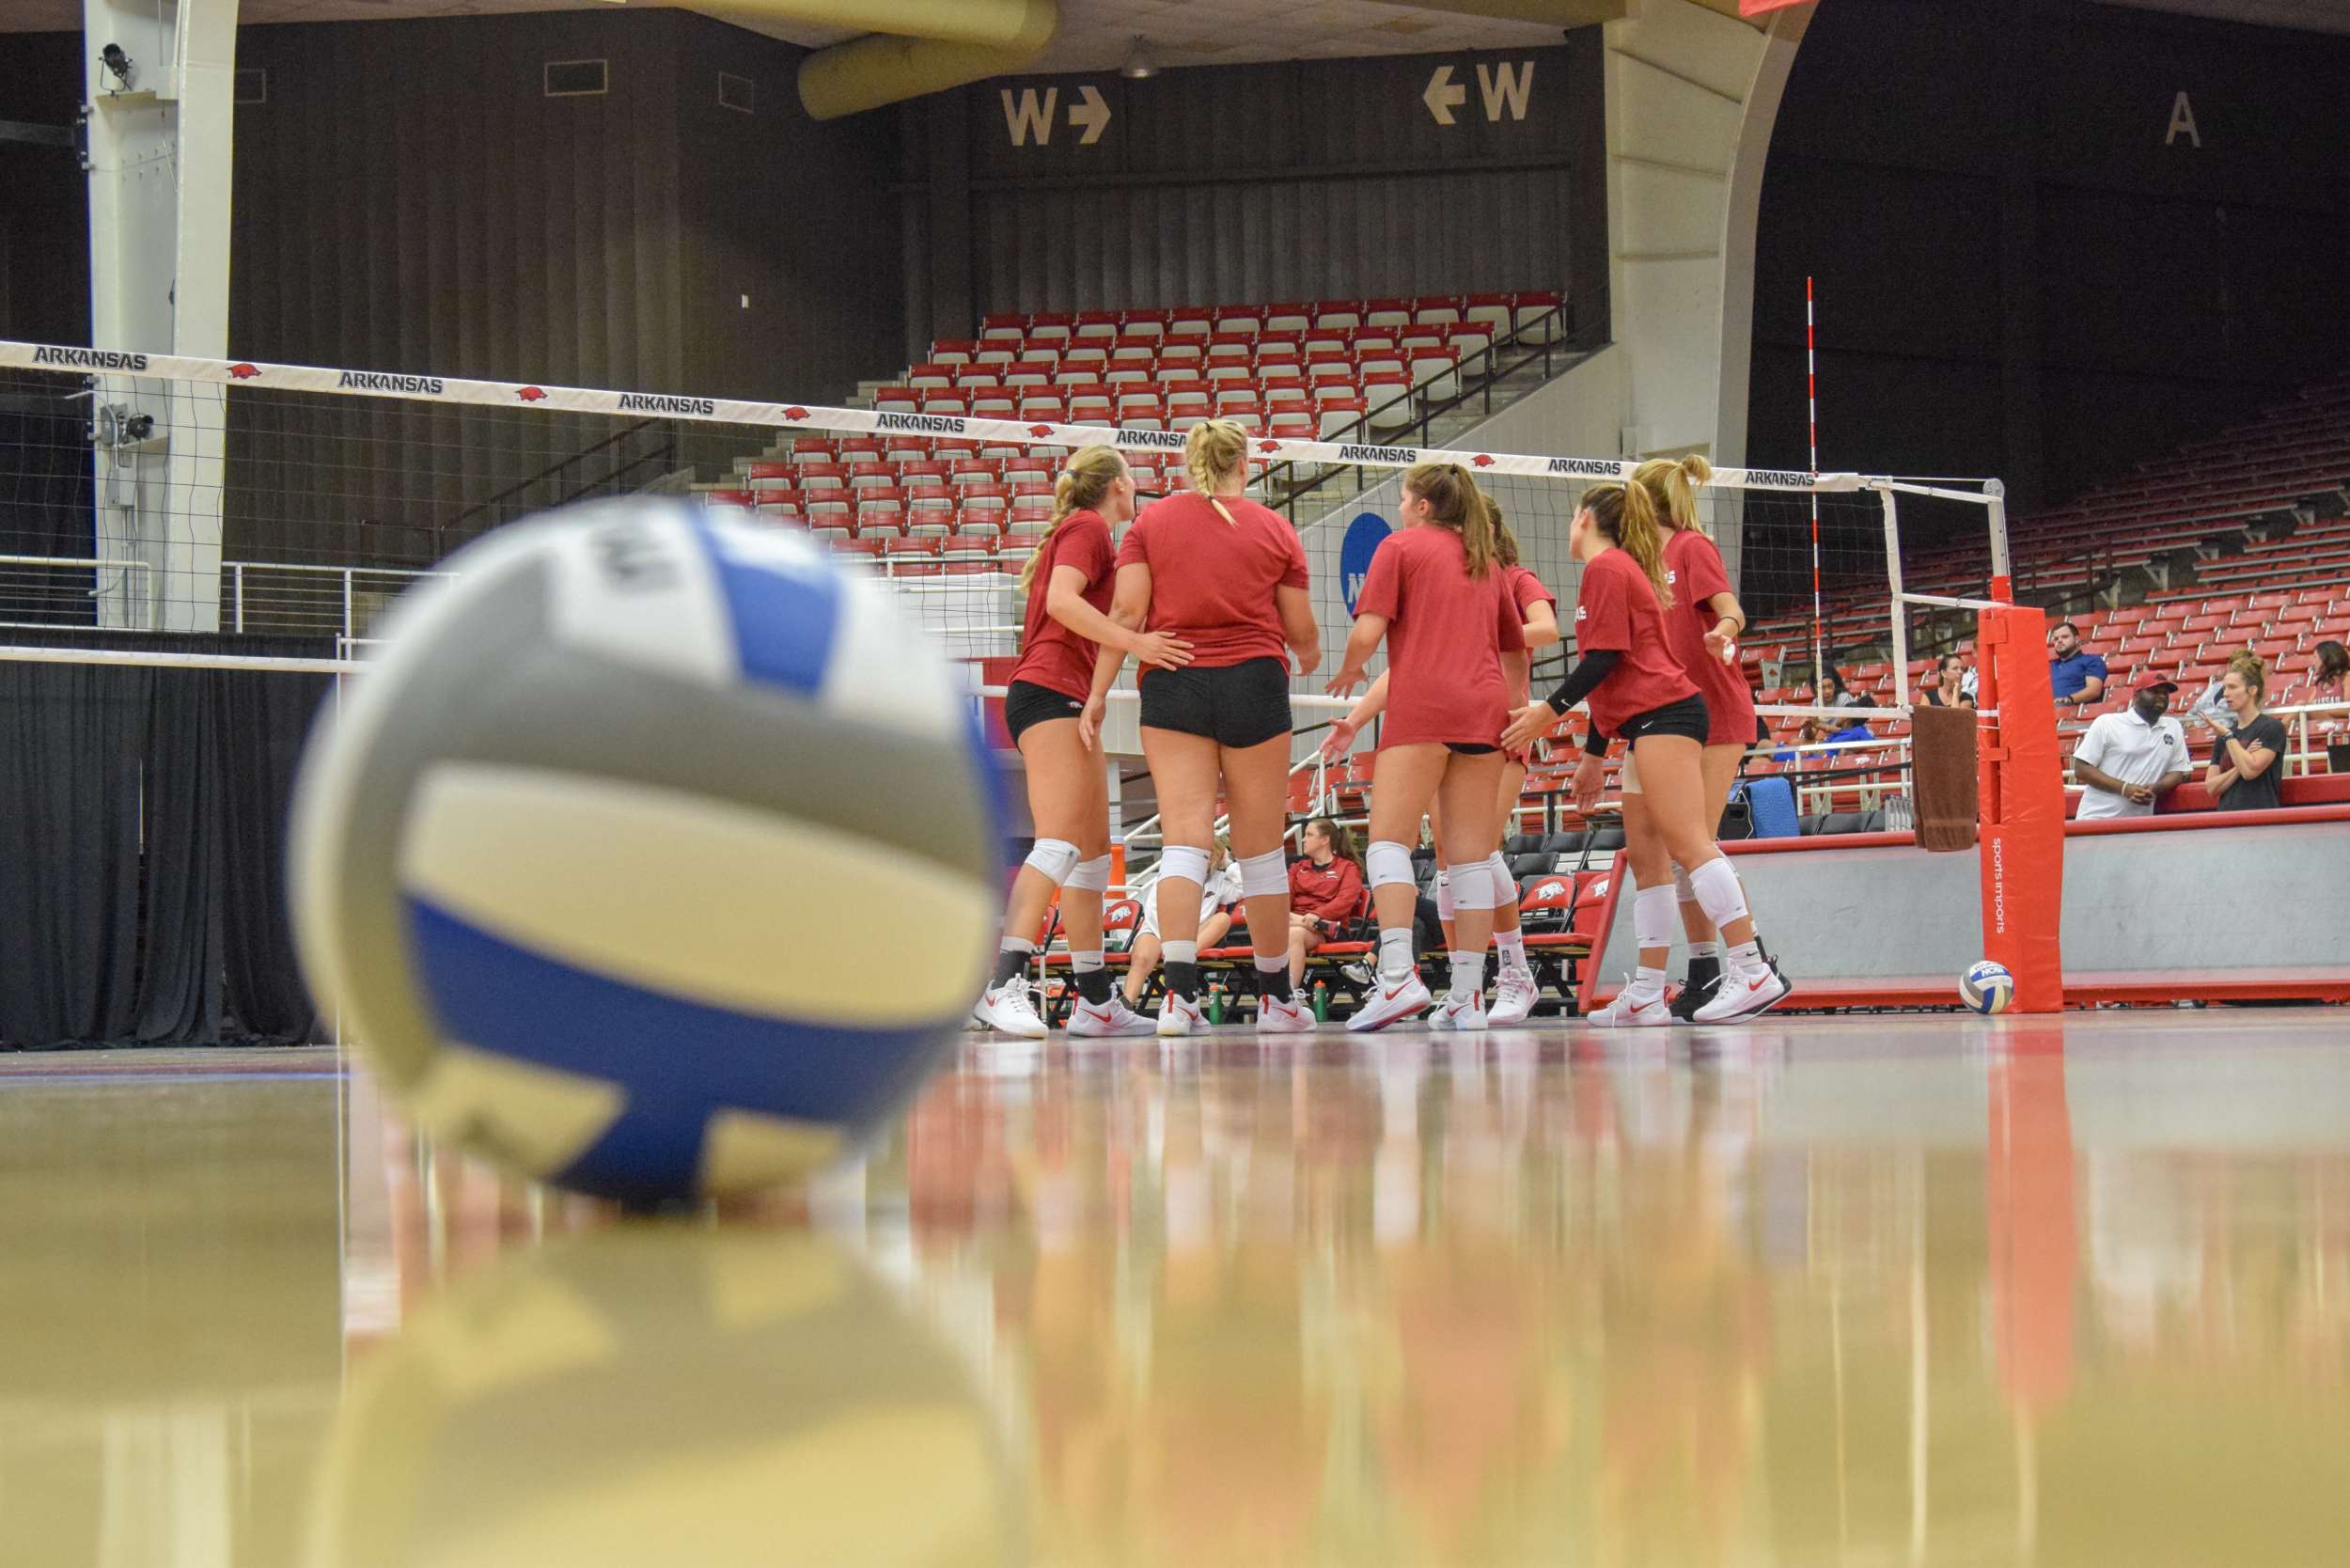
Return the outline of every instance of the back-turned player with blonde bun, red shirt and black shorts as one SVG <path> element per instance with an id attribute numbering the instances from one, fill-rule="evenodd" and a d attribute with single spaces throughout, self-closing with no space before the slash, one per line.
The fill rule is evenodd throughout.
<path id="1" fill-rule="evenodd" d="M 1257 950 L 1257 1030 L 1307 1032 L 1314 1016 L 1290 990 L 1288 830 L 1290 663 L 1321 663 L 1321 630 L 1307 595 L 1297 529 L 1248 501 L 1248 430 L 1229 418 L 1184 437 L 1191 491 L 1154 501 L 1119 548 L 1109 618 L 1180 637 L 1184 668 L 1142 670 L 1142 757 L 1159 785 L 1159 936 L 1168 997 L 1161 1034 L 1189 1034 L 1198 1009 L 1198 891 L 1215 842 L 1215 799 L 1231 818 L 1248 936 Z M 1102 722 L 1126 656 L 1104 644 L 1093 665 L 1083 724 Z"/>

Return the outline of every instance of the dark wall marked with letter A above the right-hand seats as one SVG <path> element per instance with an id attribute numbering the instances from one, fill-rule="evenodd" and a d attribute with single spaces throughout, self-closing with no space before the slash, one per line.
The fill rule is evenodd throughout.
<path id="1" fill-rule="evenodd" d="M 1762 183 L 1748 461 L 1802 463 L 1805 275 L 1824 461 L 2000 475 L 2023 515 L 2284 397 L 2350 357 L 2345 153 L 2345 38 L 1821 5 Z"/>

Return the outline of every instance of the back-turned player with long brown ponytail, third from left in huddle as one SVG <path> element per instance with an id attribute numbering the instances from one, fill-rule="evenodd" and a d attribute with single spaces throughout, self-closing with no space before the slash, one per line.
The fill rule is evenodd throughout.
<path id="1" fill-rule="evenodd" d="M 1452 884 L 1452 987 L 1429 1020 L 1485 1027 L 1485 940 L 1502 844 L 1502 726 L 1525 679 L 1525 630 L 1495 552 L 1492 512 L 1469 470 L 1422 463 L 1403 475 L 1403 529 L 1370 557 L 1354 607 L 1347 661 L 1330 696 L 1363 684 L 1386 642 L 1386 724 L 1370 776 L 1370 900 L 1379 917 L 1379 976 L 1349 1030 L 1384 1030 L 1431 1004 L 1412 957 L 1410 842 L 1438 809 L 1436 853 Z"/>

